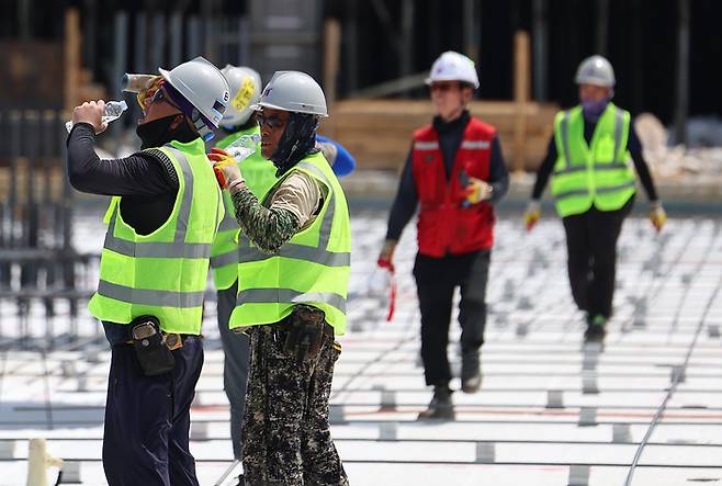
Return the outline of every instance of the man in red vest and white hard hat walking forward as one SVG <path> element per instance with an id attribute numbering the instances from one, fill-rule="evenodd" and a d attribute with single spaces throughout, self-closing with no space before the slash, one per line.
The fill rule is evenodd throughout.
<path id="1" fill-rule="evenodd" d="M 447 347 L 454 289 L 461 287 L 462 391 L 482 384 L 480 350 L 486 324 L 486 281 L 494 242 L 494 204 L 509 189 L 496 128 L 467 105 L 478 78 L 474 63 L 443 53 L 426 80 L 436 116 L 414 133 L 386 240 L 379 257 L 390 267 L 406 224 L 420 205 L 414 276 L 421 312 L 421 359 L 433 398 L 419 419 L 453 419 Z"/>

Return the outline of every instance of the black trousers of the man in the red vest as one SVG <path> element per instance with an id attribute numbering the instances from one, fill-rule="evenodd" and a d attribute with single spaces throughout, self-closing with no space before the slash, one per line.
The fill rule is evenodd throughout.
<path id="1" fill-rule="evenodd" d="M 421 310 L 421 359 L 427 385 L 447 385 L 451 380 L 447 347 L 456 286 L 461 287 L 462 351 L 476 351 L 484 343 L 490 256 L 490 250 L 443 258 L 416 256 L 414 278 Z"/>

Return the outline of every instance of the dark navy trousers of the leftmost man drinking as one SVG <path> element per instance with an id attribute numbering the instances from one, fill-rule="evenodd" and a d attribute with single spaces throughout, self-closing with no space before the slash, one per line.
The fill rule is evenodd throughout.
<path id="1" fill-rule="evenodd" d="M 176 368 L 158 376 L 143 374 L 132 346 L 116 344 L 111 352 L 103 434 L 108 484 L 198 486 L 188 434 L 203 365 L 201 338 L 188 337 L 173 351 Z"/>

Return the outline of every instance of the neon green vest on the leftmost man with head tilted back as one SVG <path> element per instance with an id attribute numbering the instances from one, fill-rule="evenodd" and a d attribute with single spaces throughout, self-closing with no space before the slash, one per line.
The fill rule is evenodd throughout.
<path id="1" fill-rule="evenodd" d="M 224 213 L 221 190 L 200 138 L 150 150 L 176 169 L 176 204 L 162 226 L 138 235 L 123 221 L 122 197 L 112 199 L 100 283 L 88 307 L 100 320 L 128 324 L 150 314 L 167 332 L 198 335 L 211 244 Z"/>

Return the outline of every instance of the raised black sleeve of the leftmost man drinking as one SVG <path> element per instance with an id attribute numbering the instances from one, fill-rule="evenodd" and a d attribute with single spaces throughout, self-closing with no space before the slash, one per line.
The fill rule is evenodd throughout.
<path id="1" fill-rule="evenodd" d="M 68 180 L 78 191 L 102 195 L 157 195 L 178 191 L 174 170 L 169 173 L 165 163 L 150 154 L 122 159 L 98 157 L 90 124 L 72 127 L 67 148 Z"/>

